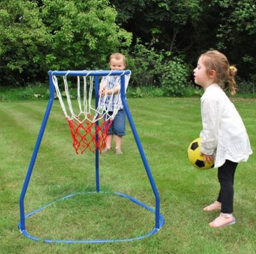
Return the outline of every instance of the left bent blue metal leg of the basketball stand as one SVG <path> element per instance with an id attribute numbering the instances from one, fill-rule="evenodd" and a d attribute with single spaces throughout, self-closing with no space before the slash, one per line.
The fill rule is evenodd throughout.
<path id="1" fill-rule="evenodd" d="M 26 191 L 28 189 L 29 180 L 30 180 L 30 177 L 31 177 L 34 165 L 35 165 L 35 161 L 36 161 L 36 156 L 38 154 L 40 143 L 41 143 L 42 137 L 44 135 L 45 126 L 47 124 L 47 120 L 48 120 L 49 114 L 51 112 L 52 103 L 54 101 L 54 86 L 52 84 L 51 72 L 52 71 L 49 71 L 49 81 L 50 81 L 50 98 L 49 98 L 49 102 L 48 102 L 47 108 L 45 110 L 44 119 L 42 121 L 42 125 L 41 125 L 41 128 L 40 128 L 40 131 L 38 133 L 38 138 L 36 140 L 35 148 L 34 148 L 34 151 L 33 151 L 32 157 L 31 157 L 31 161 L 29 163 L 28 172 L 26 174 L 26 178 L 24 180 L 22 191 L 20 193 L 20 200 L 19 200 L 19 204 L 20 204 L 20 230 L 25 230 L 26 229 L 26 225 L 25 225 L 25 211 L 24 211 L 24 197 L 25 197 Z"/>

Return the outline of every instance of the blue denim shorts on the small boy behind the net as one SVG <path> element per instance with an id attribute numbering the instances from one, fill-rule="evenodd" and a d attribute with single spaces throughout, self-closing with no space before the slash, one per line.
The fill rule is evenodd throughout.
<path id="1" fill-rule="evenodd" d="M 111 112 L 109 112 L 111 114 Z M 118 110 L 109 130 L 108 134 L 115 134 L 117 136 L 124 136 L 125 135 L 125 110 L 120 109 Z"/>

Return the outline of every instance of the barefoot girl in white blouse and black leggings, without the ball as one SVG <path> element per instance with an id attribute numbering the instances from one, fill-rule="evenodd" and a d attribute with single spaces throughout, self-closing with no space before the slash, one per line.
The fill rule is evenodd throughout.
<path id="1" fill-rule="evenodd" d="M 234 174 L 237 163 L 247 161 L 252 149 L 243 121 L 223 89 L 236 93 L 234 76 L 237 69 L 230 66 L 217 50 L 207 51 L 198 59 L 194 70 L 195 83 L 204 88 L 201 98 L 203 130 L 201 154 L 204 161 L 214 162 L 218 168 L 220 193 L 217 200 L 204 211 L 220 210 L 211 227 L 236 223 L 233 216 Z"/>

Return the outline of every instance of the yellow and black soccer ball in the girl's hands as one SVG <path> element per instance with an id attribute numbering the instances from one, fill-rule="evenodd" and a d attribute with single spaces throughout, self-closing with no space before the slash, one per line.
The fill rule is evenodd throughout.
<path id="1" fill-rule="evenodd" d="M 204 157 L 200 155 L 202 138 L 196 138 L 188 147 L 188 160 L 196 168 L 205 170 L 214 167 L 214 163 L 204 163 Z"/>

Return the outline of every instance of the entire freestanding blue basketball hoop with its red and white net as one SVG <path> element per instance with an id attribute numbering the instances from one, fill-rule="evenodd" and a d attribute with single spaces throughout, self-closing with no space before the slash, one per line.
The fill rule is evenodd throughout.
<path id="1" fill-rule="evenodd" d="M 88 75 L 90 77 L 90 82 L 89 82 L 90 84 L 87 84 L 88 82 L 86 82 L 86 77 L 89 78 Z M 132 121 L 131 112 L 129 111 L 127 101 L 125 100 L 125 89 L 129 82 L 130 75 L 131 75 L 131 71 L 129 70 L 126 70 L 125 72 L 113 71 L 113 73 L 112 71 L 49 71 L 49 83 L 50 83 L 49 103 L 45 110 L 45 116 L 42 121 L 40 131 L 38 133 L 38 138 L 36 140 L 35 148 L 31 156 L 31 161 L 29 163 L 28 172 L 24 180 L 24 184 L 22 187 L 22 191 L 20 193 L 20 200 L 19 200 L 20 221 L 19 221 L 18 228 L 20 232 L 26 237 L 28 237 L 29 239 L 32 239 L 33 241 L 40 241 L 40 243 L 42 242 L 43 243 L 118 243 L 119 242 L 120 243 L 120 242 L 126 242 L 126 241 L 141 240 L 145 237 L 156 234 L 160 230 L 160 228 L 163 227 L 164 218 L 160 214 L 159 194 L 156 188 L 156 184 L 154 183 L 154 178 L 150 171 L 147 158 L 143 151 L 140 138 L 136 131 L 136 127 L 134 125 L 134 122 Z M 111 78 L 108 76 L 117 77 L 116 82 L 119 82 L 119 80 L 121 80 L 121 89 L 120 89 L 121 92 L 120 94 L 118 94 L 117 96 L 118 98 L 115 96 L 115 100 L 112 101 L 111 112 L 108 112 L 108 108 L 110 106 L 109 101 L 111 101 L 111 97 L 113 97 L 113 94 L 108 93 L 108 95 L 111 95 L 111 96 L 102 96 L 102 98 L 100 98 L 100 95 L 99 95 L 100 77 L 102 80 L 106 78 L 107 83 L 106 83 L 106 87 L 104 87 L 106 88 L 106 91 L 108 91 L 108 82 L 112 82 L 111 85 L 115 84 L 113 83 L 113 80 L 111 81 Z M 62 82 L 59 87 L 57 77 L 58 78 L 63 77 L 64 88 L 63 88 Z M 83 86 L 81 86 L 80 77 L 84 77 Z M 77 105 L 74 108 L 73 106 L 75 105 L 72 105 L 72 103 L 74 103 L 75 101 L 70 99 L 71 95 L 69 93 L 71 92 L 71 89 L 72 89 L 72 86 L 71 86 L 72 78 L 73 79 L 75 78 L 77 80 Z M 93 86 L 93 78 L 94 78 L 95 86 Z M 26 230 L 26 220 L 28 220 L 28 218 L 31 217 L 33 214 L 36 214 L 42 211 L 43 209 L 49 207 L 50 205 L 56 204 L 56 202 L 58 202 L 58 200 L 56 200 L 54 202 L 51 202 L 50 204 L 44 205 L 43 207 L 32 211 L 31 213 L 25 214 L 24 198 L 26 196 L 26 191 L 28 190 L 29 181 L 31 179 L 31 174 L 34 169 L 36 157 L 40 149 L 40 144 L 44 135 L 47 120 L 49 119 L 49 115 L 51 113 L 52 103 L 54 101 L 54 87 L 55 87 L 57 96 L 59 98 L 61 108 L 63 109 L 63 112 L 67 119 L 68 126 L 70 127 L 70 130 L 71 130 L 71 135 L 73 138 L 73 146 L 76 150 L 76 153 L 84 153 L 86 149 L 90 149 L 91 151 L 96 151 L 95 153 L 95 189 L 96 191 L 93 191 L 93 192 L 90 191 L 88 192 L 88 194 L 104 193 L 104 191 L 100 191 L 100 174 L 99 174 L 100 161 L 99 161 L 98 151 L 99 150 L 102 151 L 102 147 L 105 146 L 108 128 L 111 126 L 111 123 L 118 109 L 120 108 L 120 103 L 122 103 L 122 106 L 124 106 L 125 108 L 125 113 L 131 126 L 131 131 L 134 135 L 134 139 L 136 141 L 138 150 L 140 152 L 141 160 L 145 167 L 145 171 L 147 172 L 148 181 L 150 182 L 152 191 L 154 193 L 155 209 L 152 209 L 148 205 L 143 204 L 139 200 L 136 200 L 136 198 L 133 198 L 129 195 L 125 195 L 124 193 L 114 192 L 113 194 L 127 198 L 127 200 L 131 200 L 134 204 L 140 205 L 141 207 L 147 209 L 148 211 L 153 212 L 155 214 L 155 227 L 151 232 L 148 232 L 145 235 L 138 235 L 136 237 L 131 237 L 131 238 L 113 239 L 113 237 L 111 237 L 111 239 L 94 239 L 94 240 L 93 239 L 76 240 L 74 239 L 74 237 L 72 237 L 72 240 L 44 239 L 28 233 L 28 231 Z M 100 94 L 104 93 L 104 89 L 101 89 L 101 88 L 102 86 L 100 86 L 100 90 L 101 90 Z M 93 89 L 95 90 L 95 107 L 92 107 Z M 103 94 L 103 95 L 106 95 L 106 94 Z M 106 97 L 108 97 L 108 99 L 106 99 Z M 98 103 L 99 101 L 100 103 Z M 113 104 L 115 104 L 115 107 L 113 107 Z M 105 106 L 103 107 L 102 105 L 105 105 Z M 106 193 L 108 194 L 111 192 L 106 192 Z M 66 200 L 67 198 L 74 197 L 74 195 L 76 194 L 79 194 L 79 193 L 66 195 L 63 198 L 60 198 L 60 200 Z M 44 193 L 42 193 L 42 195 L 44 195 Z"/>

